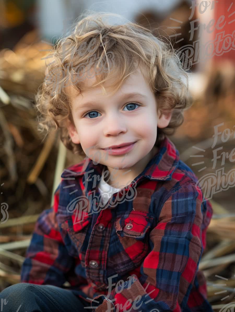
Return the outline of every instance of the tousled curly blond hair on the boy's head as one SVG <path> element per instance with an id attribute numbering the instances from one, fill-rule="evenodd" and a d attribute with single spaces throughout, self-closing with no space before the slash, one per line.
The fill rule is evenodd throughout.
<path id="1" fill-rule="evenodd" d="M 83 14 L 85 15 L 85 14 Z M 155 146 L 165 135 L 175 133 L 183 121 L 183 111 L 192 105 L 188 92 L 188 75 L 173 47 L 155 37 L 151 30 L 135 22 L 112 24 L 104 22 L 107 17 L 122 18 L 118 14 L 95 12 L 81 15 L 65 37 L 61 37 L 49 53 L 53 60 L 47 66 L 46 76 L 36 94 L 35 108 L 38 115 L 38 130 L 45 132 L 60 129 L 63 144 L 74 154 L 85 155 L 81 144 L 71 141 L 67 121 L 73 125 L 71 98 L 67 86 L 73 86 L 76 94 L 100 85 L 113 75 L 118 90 L 125 78 L 141 66 L 149 87 L 154 93 L 158 109 L 172 110 L 169 125 L 158 128 Z M 83 18 L 82 18 L 83 17 Z M 95 69 L 97 83 L 88 87 L 82 76 L 89 66 Z M 87 72 L 86 72 L 87 73 Z"/>

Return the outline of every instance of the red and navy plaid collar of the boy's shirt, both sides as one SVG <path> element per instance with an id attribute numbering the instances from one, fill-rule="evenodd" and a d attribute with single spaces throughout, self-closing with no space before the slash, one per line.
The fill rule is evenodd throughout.
<path id="1" fill-rule="evenodd" d="M 149 161 L 136 180 L 142 177 L 149 178 L 150 180 L 171 180 L 172 174 L 178 167 L 178 163 L 179 152 L 174 143 L 168 137 L 165 137 L 159 145 L 158 153 Z M 81 176 L 92 170 L 101 176 L 104 166 L 100 163 L 94 164 L 91 158 L 86 158 L 81 163 L 64 169 L 61 178 Z"/>

